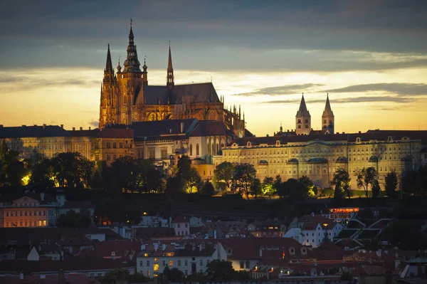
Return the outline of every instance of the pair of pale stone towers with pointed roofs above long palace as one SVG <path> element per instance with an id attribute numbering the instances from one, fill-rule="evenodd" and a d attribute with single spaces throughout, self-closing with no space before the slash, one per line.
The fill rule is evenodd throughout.
<path id="1" fill-rule="evenodd" d="M 295 115 L 295 132 L 297 135 L 310 135 L 311 131 L 311 115 L 305 105 L 304 93 L 302 93 L 300 109 Z M 331 109 L 329 95 L 326 97 L 325 110 L 322 114 L 322 133 L 334 134 L 334 112 Z"/>

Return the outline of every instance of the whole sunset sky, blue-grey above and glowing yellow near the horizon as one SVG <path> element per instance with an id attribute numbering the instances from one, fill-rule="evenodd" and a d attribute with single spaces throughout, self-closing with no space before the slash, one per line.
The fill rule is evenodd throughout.
<path id="1" fill-rule="evenodd" d="M 6 1 L 0 9 L 0 124 L 97 127 L 110 43 L 126 57 L 133 20 L 150 85 L 212 80 L 246 127 L 295 129 L 302 93 L 336 132 L 427 130 L 427 1 Z M 142 63 L 143 64 L 143 63 Z"/>

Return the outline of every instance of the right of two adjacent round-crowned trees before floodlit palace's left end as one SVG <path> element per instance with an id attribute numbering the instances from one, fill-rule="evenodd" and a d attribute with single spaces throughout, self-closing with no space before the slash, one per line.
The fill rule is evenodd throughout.
<path id="1" fill-rule="evenodd" d="M 233 178 L 231 179 L 231 191 L 244 194 L 249 199 L 251 186 L 256 178 L 256 170 L 252 164 L 238 164 L 234 168 Z"/>

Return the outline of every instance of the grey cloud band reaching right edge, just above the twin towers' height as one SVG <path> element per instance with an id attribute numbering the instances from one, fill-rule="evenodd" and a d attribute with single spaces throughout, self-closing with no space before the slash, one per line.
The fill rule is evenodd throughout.
<path id="1" fill-rule="evenodd" d="M 427 95 L 427 84 L 424 83 L 374 83 L 350 85 L 344 88 L 324 90 L 327 93 L 363 93 L 388 92 L 396 95 Z"/>

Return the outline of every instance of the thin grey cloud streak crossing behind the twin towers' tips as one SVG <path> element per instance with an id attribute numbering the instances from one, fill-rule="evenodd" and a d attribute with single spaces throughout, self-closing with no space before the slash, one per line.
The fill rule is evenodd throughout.
<path id="1" fill-rule="evenodd" d="M 394 97 L 394 96 L 366 96 L 366 97 L 356 97 L 356 98 L 340 98 L 330 100 L 331 105 L 333 104 L 341 104 L 341 103 L 350 103 L 350 102 L 398 102 L 398 103 L 407 103 L 413 102 L 416 99 L 411 97 Z M 295 104 L 296 102 L 300 102 L 300 100 L 269 100 L 262 103 L 270 103 L 270 104 Z M 325 103 L 325 100 L 306 100 L 307 104 L 311 103 Z"/>

